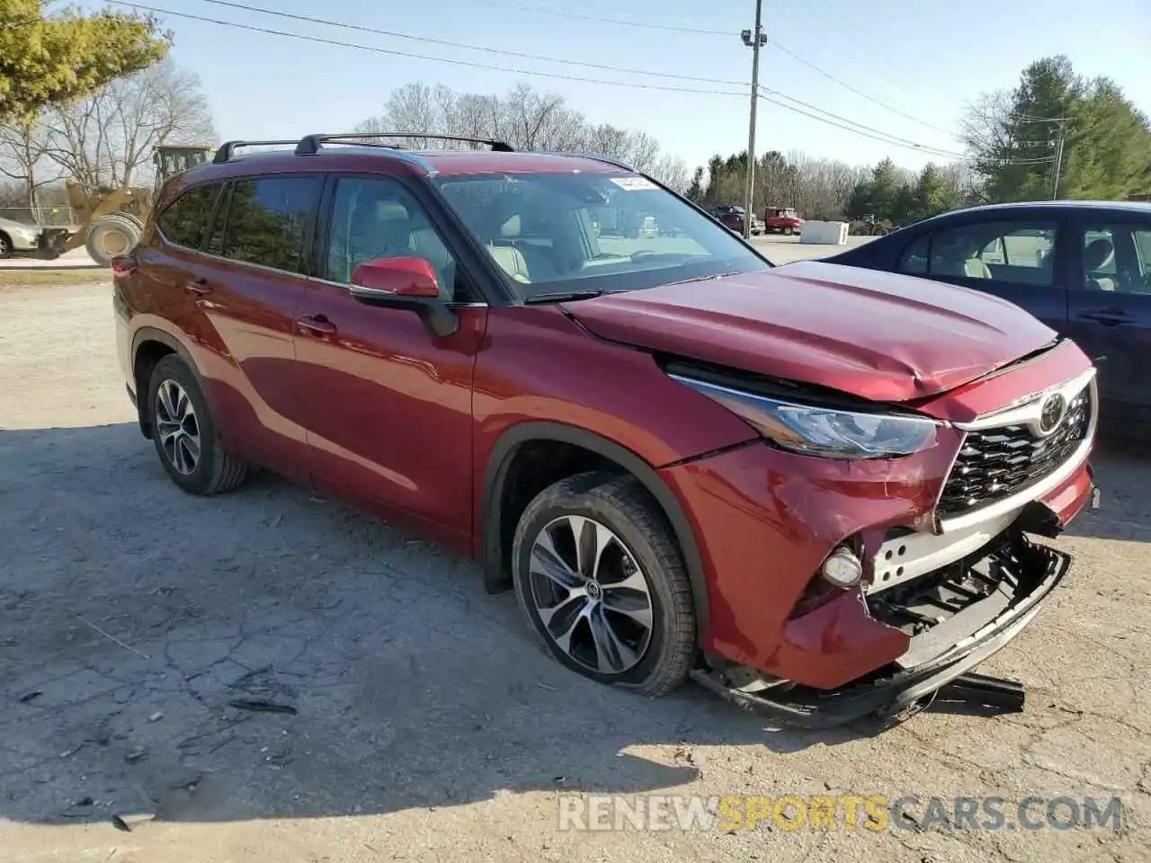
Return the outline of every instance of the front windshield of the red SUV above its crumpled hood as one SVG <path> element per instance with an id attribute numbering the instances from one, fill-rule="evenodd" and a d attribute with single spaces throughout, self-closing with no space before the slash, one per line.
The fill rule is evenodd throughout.
<path id="1" fill-rule="evenodd" d="M 436 185 L 524 299 L 631 291 L 771 266 L 637 175 L 445 176 Z"/>

